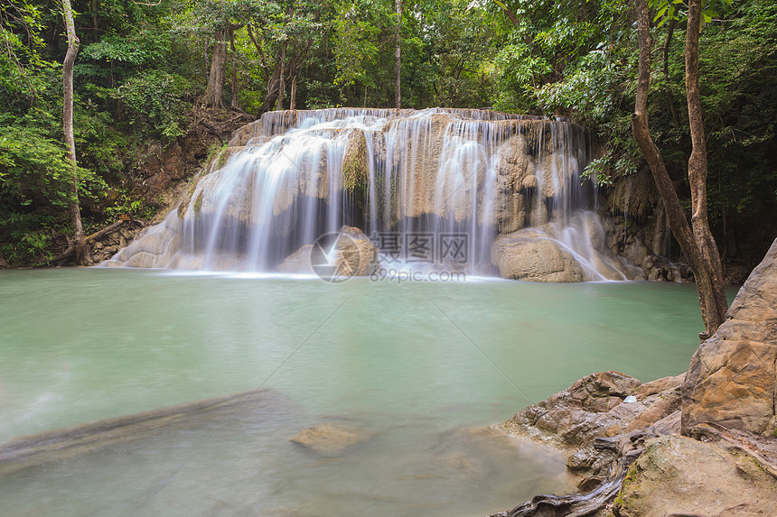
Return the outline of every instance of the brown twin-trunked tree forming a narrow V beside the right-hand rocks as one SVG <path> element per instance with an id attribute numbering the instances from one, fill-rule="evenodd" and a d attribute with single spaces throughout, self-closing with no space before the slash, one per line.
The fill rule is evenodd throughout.
<path id="1" fill-rule="evenodd" d="M 717 247 L 707 226 L 707 159 L 705 154 L 704 132 L 700 127 L 701 106 L 698 98 L 698 32 L 700 27 L 701 5 L 699 0 L 691 0 L 688 11 L 688 38 L 686 43 L 686 81 L 688 95 L 688 111 L 695 113 L 697 124 L 692 131 L 693 153 L 688 162 L 688 181 L 693 196 L 693 224 L 688 225 L 688 219 L 679 203 L 677 192 L 667 172 L 663 156 L 653 142 L 648 127 L 648 93 L 651 84 L 651 19 L 648 10 L 648 0 L 636 0 L 638 41 L 640 46 L 639 79 L 637 97 L 632 115 L 632 132 L 651 167 L 653 178 L 664 202 L 669 227 L 672 234 L 688 258 L 694 272 L 697 284 L 698 301 L 706 332 L 699 337 L 712 336 L 726 318 L 726 292 L 723 289 L 720 258 Z M 692 15 L 692 13 L 694 13 Z M 688 67 L 688 64 L 690 65 Z M 693 136 L 695 135 L 695 136 Z M 692 171 L 693 170 L 693 171 Z M 703 219 L 703 220 L 702 220 Z"/>

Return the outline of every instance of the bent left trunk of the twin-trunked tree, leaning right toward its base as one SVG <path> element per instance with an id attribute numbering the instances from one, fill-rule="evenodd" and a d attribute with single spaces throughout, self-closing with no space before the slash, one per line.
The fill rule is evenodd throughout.
<path id="1" fill-rule="evenodd" d="M 715 294 L 716 290 L 722 291 L 723 285 L 720 282 L 720 278 L 716 278 L 715 274 L 707 269 L 707 263 L 702 258 L 700 246 L 694 238 L 694 232 L 691 230 L 690 225 L 688 225 L 688 218 L 679 204 L 679 198 L 674 185 L 672 185 L 672 180 L 669 178 L 663 156 L 661 156 L 659 148 L 651 138 L 650 129 L 648 128 L 648 92 L 651 84 L 651 22 L 647 0 L 636 0 L 636 5 L 640 67 L 637 98 L 632 115 L 632 132 L 642 154 L 645 156 L 645 160 L 647 160 L 651 167 L 653 179 L 656 181 L 656 187 L 659 189 L 661 199 L 664 202 L 664 208 L 666 208 L 672 234 L 677 239 L 682 253 L 685 254 L 688 263 L 690 263 L 693 269 L 701 317 L 707 329 L 706 333 L 700 334 L 699 337 L 705 337 L 705 334 L 708 337 L 715 333 L 723 321 L 716 304 L 717 297 Z M 688 53 L 688 49 L 686 52 Z M 696 178 L 696 180 L 699 179 Z M 702 183 L 704 182 L 704 179 L 700 180 Z M 724 316 L 725 313 L 726 309 L 723 309 Z"/>

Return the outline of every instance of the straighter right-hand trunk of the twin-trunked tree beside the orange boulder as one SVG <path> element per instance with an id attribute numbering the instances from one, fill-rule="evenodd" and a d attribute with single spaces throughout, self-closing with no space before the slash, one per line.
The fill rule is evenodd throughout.
<path id="1" fill-rule="evenodd" d="M 707 143 L 704 121 L 701 115 L 701 94 L 698 89 L 698 36 L 701 32 L 701 0 L 688 3 L 688 31 L 685 45 L 685 88 L 688 95 L 688 123 L 692 145 L 688 158 L 688 183 L 693 213 L 690 218 L 693 235 L 698 245 L 701 261 L 710 277 L 711 291 L 707 293 L 707 311 L 712 331 L 726 320 L 728 301 L 723 288 L 723 267 L 715 238 L 709 229 L 707 217 Z"/>

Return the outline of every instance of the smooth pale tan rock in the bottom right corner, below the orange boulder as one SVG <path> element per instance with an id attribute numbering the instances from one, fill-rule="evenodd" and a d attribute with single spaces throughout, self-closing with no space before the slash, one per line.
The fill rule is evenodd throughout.
<path id="1" fill-rule="evenodd" d="M 679 436 L 651 440 L 616 499 L 620 517 L 766 516 L 775 513 L 777 479 L 752 457 Z"/>

